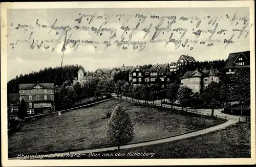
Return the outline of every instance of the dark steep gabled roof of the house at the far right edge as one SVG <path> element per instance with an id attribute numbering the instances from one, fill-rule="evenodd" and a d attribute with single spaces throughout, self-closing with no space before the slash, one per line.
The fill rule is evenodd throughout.
<path id="1" fill-rule="evenodd" d="M 234 68 L 235 67 L 234 61 L 238 58 L 238 56 L 241 53 L 243 54 L 243 56 L 247 58 L 247 61 L 250 61 L 250 51 L 230 53 L 228 55 L 228 58 L 225 64 L 225 68 Z M 239 66 L 239 68 L 243 68 L 243 67 L 249 67 L 249 65 Z"/>

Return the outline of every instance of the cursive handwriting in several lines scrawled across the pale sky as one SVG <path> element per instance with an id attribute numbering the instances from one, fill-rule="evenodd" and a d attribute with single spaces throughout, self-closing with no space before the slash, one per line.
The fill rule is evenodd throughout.
<path id="1" fill-rule="evenodd" d="M 223 16 L 212 15 L 151 15 L 151 14 L 109 14 L 78 13 L 73 23 L 67 25 L 63 20 L 55 18 L 47 25 L 41 19 L 35 19 L 34 24 L 10 22 L 7 25 L 6 37 L 22 33 L 22 37 L 14 37 L 9 42 L 11 49 L 28 47 L 31 50 L 43 49 L 53 52 L 61 44 L 61 52 L 70 47 L 76 51 L 79 46 L 93 45 L 104 49 L 117 47 L 122 50 L 137 50 L 142 52 L 148 44 L 164 43 L 165 49 L 175 50 L 186 48 L 193 50 L 199 45 L 211 47 L 221 43 L 226 47 L 234 42 L 248 38 L 252 24 L 249 23 L 249 13 L 239 14 L 239 11 Z M 2 26 L 5 22 L 1 18 Z M 96 35 L 93 40 L 83 38 L 84 33 Z M 137 37 L 138 33 L 141 35 Z M 43 38 L 38 36 L 43 34 Z M 23 45 L 25 44 L 25 45 Z M 24 48 L 26 49 L 26 48 Z M 59 49 L 59 47 L 58 47 Z"/>

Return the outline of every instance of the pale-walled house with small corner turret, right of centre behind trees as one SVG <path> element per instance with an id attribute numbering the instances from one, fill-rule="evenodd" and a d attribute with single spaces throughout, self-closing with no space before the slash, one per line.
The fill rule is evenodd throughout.
<path id="1" fill-rule="evenodd" d="M 194 93 L 201 93 L 209 83 L 219 82 L 220 73 L 217 69 L 187 71 L 181 79 L 181 85 L 187 86 Z"/>

